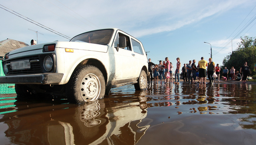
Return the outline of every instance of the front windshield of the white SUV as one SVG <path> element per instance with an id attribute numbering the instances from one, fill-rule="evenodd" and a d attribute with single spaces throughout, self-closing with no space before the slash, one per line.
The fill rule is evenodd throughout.
<path id="1" fill-rule="evenodd" d="M 86 33 L 77 35 L 74 38 L 72 38 L 70 41 L 107 45 L 110 41 L 112 33 L 113 33 L 113 29 L 96 30 L 96 31 L 86 32 Z"/>

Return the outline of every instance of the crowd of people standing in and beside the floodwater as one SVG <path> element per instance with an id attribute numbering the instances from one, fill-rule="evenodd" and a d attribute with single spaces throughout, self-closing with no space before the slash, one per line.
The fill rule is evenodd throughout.
<path id="1" fill-rule="evenodd" d="M 155 64 L 151 62 L 149 58 L 148 69 L 150 72 L 150 81 L 152 82 L 154 77 L 154 83 L 158 83 L 158 79 L 160 79 L 160 83 L 172 83 L 175 84 L 180 83 L 180 68 L 181 62 L 180 58 L 176 58 L 176 69 L 169 61 L 169 58 L 166 57 L 165 61 L 159 61 L 159 64 Z M 212 58 L 209 58 L 209 62 L 204 60 L 204 57 L 201 57 L 201 60 L 198 61 L 196 65 L 196 60 L 189 61 L 189 63 L 184 63 L 184 66 L 181 68 L 183 81 L 188 81 L 189 83 L 202 83 L 206 84 L 206 79 L 208 77 L 209 83 L 212 84 L 214 82 L 220 82 L 220 67 L 219 64 L 215 66 L 215 63 L 212 61 Z M 256 67 L 256 65 L 255 65 Z M 174 70 L 175 69 L 175 70 Z M 174 78 L 173 78 L 174 72 Z M 228 77 L 230 73 L 230 78 Z M 247 62 L 240 67 L 240 73 L 235 71 L 234 67 L 231 67 L 228 70 L 226 67 L 222 70 L 223 76 L 221 77 L 223 81 L 227 81 L 229 79 L 232 80 L 240 80 L 243 83 L 246 83 L 247 76 L 251 73 L 250 67 L 247 66 Z M 242 75 L 241 75 L 242 74 Z M 174 79 L 174 80 L 173 80 Z M 198 79 L 198 82 L 196 80 Z"/>

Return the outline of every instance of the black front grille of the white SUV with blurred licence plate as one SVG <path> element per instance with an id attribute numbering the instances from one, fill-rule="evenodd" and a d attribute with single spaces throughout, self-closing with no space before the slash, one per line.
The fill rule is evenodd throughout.
<path id="1" fill-rule="evenodd" d="M 20 57 L 20 58 L 15 58 L 12 60 L 7 60 L 6 63 L 10 63 L 13 61 L 20 61 L 20 60 L 39 60 L 39 56 L 27 56 L 27 57 Z M 38 62 L 30 62 L 30 69 L 20 69 L 20 70 L 12 70 L 11 66 L 8 65 L 8 71 L 9 74 L 12 75 L 18 75 L 18 74 L 36 74 L 36 73 L 42 73 L 41 72 L 41 67 L 40 67 L 40 61 Z"/>

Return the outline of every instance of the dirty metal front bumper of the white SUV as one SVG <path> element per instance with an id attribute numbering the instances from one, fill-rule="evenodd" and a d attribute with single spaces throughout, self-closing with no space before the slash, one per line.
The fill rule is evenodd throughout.
<path id="1" fill-rule="evenodd" d="M 0 83 L 6 84 L 58 84 L 63 73 L 41 73 L 0 77 Z"/>

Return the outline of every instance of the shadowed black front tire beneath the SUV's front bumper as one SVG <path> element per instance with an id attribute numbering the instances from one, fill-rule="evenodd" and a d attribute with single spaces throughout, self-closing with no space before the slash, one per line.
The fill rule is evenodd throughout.
<path id="1" fill-rule="evenodd" d="M 26 100 L 32 95 L 32 89 L 28 88 L 24 84 L 15 84 L 15 91 L 17 94 L 16 100 Z"/>

